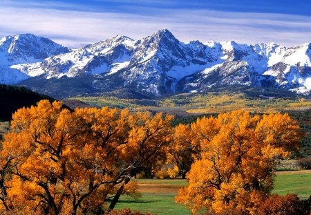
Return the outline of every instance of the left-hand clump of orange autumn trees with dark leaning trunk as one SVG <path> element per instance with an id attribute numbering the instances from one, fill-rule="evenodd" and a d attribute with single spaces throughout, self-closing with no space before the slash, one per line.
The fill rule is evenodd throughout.
<path id="1" fill-rule="evenodd" d="M 164 152 L 172 117 L 62 109 L 43 100 L 12 116 L 0 154 L 1 214 L 102 214 Z M 111 200 L 110 205 L 108 200 Z"/>

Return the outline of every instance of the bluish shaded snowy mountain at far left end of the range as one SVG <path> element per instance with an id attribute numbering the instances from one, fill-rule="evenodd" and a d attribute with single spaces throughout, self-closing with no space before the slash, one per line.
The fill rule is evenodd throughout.
<path id="1" fill-rule="evenodd" d="M 71 50 L 54 41 L 31 34 L 2 37 L 0 39 L 0 83 L 14 84 L 33 75 L 20 71 L 18 64 L 42 62 L 47 57 Z"/>

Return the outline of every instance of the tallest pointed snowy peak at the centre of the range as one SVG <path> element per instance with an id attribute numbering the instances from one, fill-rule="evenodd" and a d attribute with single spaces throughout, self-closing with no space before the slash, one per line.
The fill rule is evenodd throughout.
<path id="1" fill-rule="evenodd" d="M 217 48 L 200 41 L 182 43 L 167 29 L 140 39 L 135 45 L 124 84 L 154 95 L 175 93 L 176 84 L 183 77 L 223 61 Z"/>

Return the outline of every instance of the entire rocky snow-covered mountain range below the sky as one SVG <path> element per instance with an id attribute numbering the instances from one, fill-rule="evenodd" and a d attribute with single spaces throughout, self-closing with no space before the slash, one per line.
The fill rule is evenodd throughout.
<path id="1" fill-rule="evenodd" d="M 5 65 L 0 82 L 49 95 L 131 88 L 158 96 L 236 84 L 311 91 L 311 44 L 185 44 L 164 29 L 137 41 L 118 35 L 75 50 L 42 37 L 16 35 L 0 39 L 0 52 L 0 65 Z"/>

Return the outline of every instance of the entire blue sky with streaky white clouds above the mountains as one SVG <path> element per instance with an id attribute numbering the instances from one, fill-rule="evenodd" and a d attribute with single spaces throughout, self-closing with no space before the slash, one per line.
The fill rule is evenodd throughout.
<path id="1" fill-rule="evenodd" d="M 0 36 L 30 32 L 77 48 L 162 28 L 180 41 L 311 41 L 311 3 L 288 0 L 1 0 Z"/>

